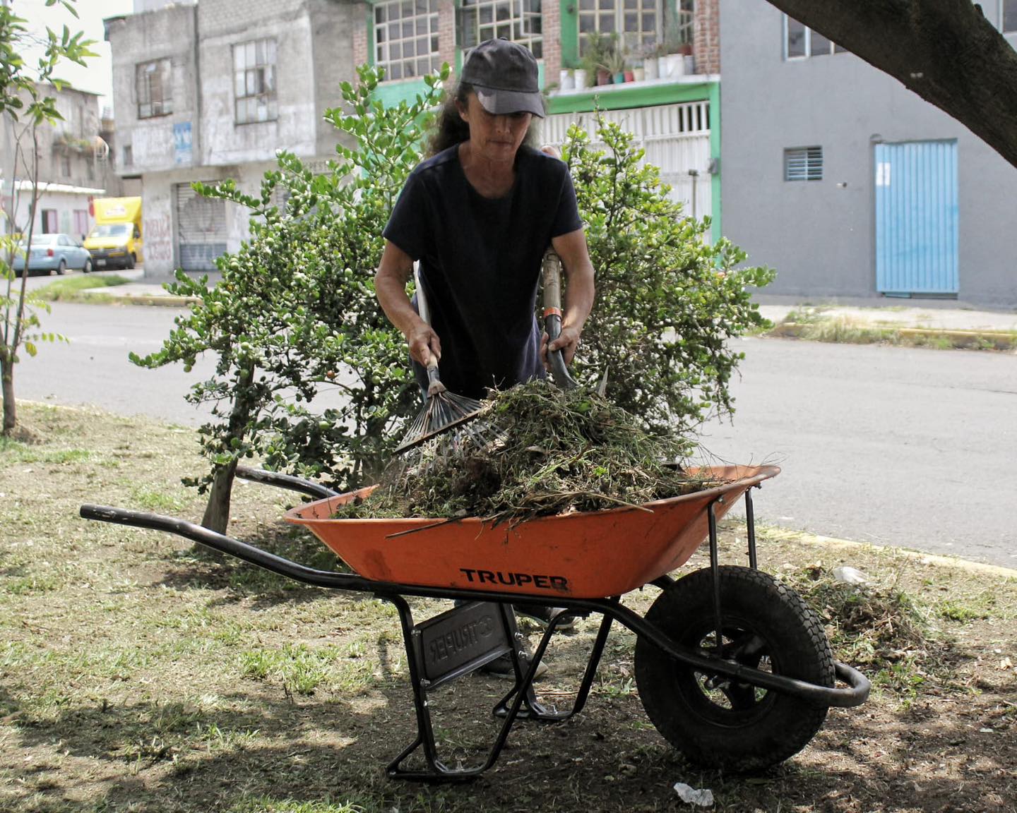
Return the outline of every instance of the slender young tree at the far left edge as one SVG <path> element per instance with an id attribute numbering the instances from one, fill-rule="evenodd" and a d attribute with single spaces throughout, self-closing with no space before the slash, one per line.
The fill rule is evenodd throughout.
<path id="1" fill-rule="evenodd" d="M 46 0 L 55 5 L 58 0 Z M 74 16 L 77 12 L 73 0 L 60 0 Z M 36 342 L 60 338 L 55 333 L 42 330 L 39 311 L 49 311 L 49 306 L 27 294 L 27 246 L 36 227 L 36 208 L 39 203 L 39 128 L 60 121 L 56 99 L 45 88 L 60 89 L 63 82 L 54 76 L 61 60 L 67 59 L 83 65 L 88 57 L 96 56 L 89 46 L 93 40 L 83 40 L 83 34 L 71 34 L 65 25 L 62 34 L 47 29 L 43 54 L 35 70 L 24 63 L 22 52 L 35 38 L 29 35 L 25 20 L 16 16 L 6 3 L 0 5 L 0 126 L 6 129 L 4 142 L 9 152 L 4 157 L 3 209 L 4 237 L 0 240 L 0 390 L 3 397 L 2 434 L 8 435 L 17 425 L 17 408 L 14 400 L 14 365 L 18 351 L 23 347 L 29 356 L 37 352 Z M 28 182 L 23 191 L 18 188 L 19 175 Z M 21 196 L 26 198 L 22 206 Z M 16 220 L 16 212 L 24 209 L 26 222 Z M 21 282 L 15 287 L 14 259 L 23 256 Z"/>

